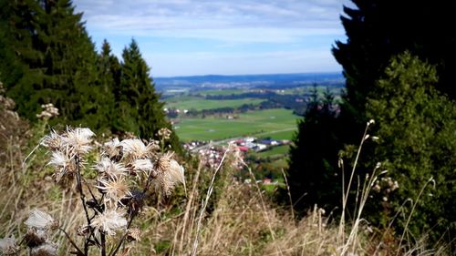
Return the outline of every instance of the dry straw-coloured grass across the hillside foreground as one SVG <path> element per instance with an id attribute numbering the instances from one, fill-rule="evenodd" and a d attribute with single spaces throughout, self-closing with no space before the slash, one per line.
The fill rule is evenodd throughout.
<path id="1" fill-rule="evenodd" d="M 44 151 L 37 150 L 26 165 L 22 164 L 33 148 L 26 147 L 28 140 L 34 139 L 24 138 L 23 134 L 26 134 L 23 130 L 8 134 L 7 138 L 11 139 L 2 144 L 7 147 L 0 148 L 0 189 L 3 191 L 0 193 L 0 237 L 14 234 L 22 238 L 26 231 L 23 222 L 33 208 L 46 210 L 60 220 L 71 237 L 76 237 L 76 230 L 85 219 L 77 192 L 61 189 L 50 179 Z M 362 208 L 357 219 L 350 222 L 355 224 L 342 222 L 342 229 L 339 220 L 328 218 L 327 213 L 317 207 L 296 222 L 289 209 L 277 208 L 264 200 L 263 190 L 257 184 L 233 179 L 236 170 L 232 163 L 236 160 L 235 154 L 227 152 L 218 171 L 205 169 L 201 164 L 196 168 L 187 166 L 187 195 L 182 193 L 173 200 L 150 200 L 150 205 L 133 223 L 142 230 L 141 241 L 121 249 L 122 252 L 130 250 L 130 254 L 122 255 L 451 254 L 445 246 L 426 251 L 424 242 L 407 248 L 399 246 L 391 233 L 371 231 L 368 222 L 361 218 Z M 217 182 L 202 186 L 212 178 Z M 60 255 L 67 255 L 70 244 L 62 232 L 52 241 L 60 244 Z"/>

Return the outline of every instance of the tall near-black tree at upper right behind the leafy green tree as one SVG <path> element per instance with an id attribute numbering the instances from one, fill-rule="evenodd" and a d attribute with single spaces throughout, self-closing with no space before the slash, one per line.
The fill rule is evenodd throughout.
<path id="1" fill-rule="evenodd" d="M 436 65 L 438 88 L 456 97 L 454 1 L 352 0 L 341 16 L 347 43 L 333 48 L 347 77 L 347 102 L 364 123 L 366 97 L 389 59 L 405 50 Z M 360 119 L 359 119 L 360 118 Z"/>

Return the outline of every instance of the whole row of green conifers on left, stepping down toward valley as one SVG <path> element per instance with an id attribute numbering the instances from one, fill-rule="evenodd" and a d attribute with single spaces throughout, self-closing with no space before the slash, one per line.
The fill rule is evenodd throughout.
<path id="1" fill-rule="evenodd" d="M 69 0 L 0 1 L 0 80 L 31 121 L 52 103 L 50 125 L 85 126 L 153 138 L 171 128 L 150 67 L 135 40 L 113 55 L 108 41 L 97 52 Z M 171 139 L 178 146 L 178 138 Z"/>

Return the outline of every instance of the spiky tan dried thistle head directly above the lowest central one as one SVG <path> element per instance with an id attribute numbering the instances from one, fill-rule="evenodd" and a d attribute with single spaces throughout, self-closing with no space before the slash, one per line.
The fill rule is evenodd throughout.
<path id="1" fill-rule="evenodd" d="M 123 177 L 115 180 L 98 179 L 98 182 L 100 184 L 96 187 L 105 194 L 104 202 L 109 203 L 109 206 L 125 197 L 131 196 L 129 186 Z"/>

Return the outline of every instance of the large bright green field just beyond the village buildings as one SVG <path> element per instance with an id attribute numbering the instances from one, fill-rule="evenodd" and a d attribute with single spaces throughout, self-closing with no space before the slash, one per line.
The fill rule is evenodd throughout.
<path id="1" fill-rule="evenodd" d="M 296 130 L 296 119 L 300 118 L 284 108 L 255 110 L 237 116 L 237 119 L 181 118 L 174 128 L 182 141 L 242 136 L 290 139 Z"/>

